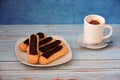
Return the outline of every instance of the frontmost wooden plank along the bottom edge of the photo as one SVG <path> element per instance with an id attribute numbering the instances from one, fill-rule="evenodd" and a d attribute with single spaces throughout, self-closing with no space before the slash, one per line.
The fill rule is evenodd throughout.
<path id="1" fill-rule="evenodd" d="M 1 80 L 119 80 L 119 72 L 5 71 Z"/>

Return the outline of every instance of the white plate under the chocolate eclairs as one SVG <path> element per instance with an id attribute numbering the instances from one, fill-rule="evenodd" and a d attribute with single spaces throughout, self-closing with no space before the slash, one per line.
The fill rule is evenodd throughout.
<path id="1" fill-rule="evenodd" d="M 20 38 L 16 42 L 16 45 L 15 45 L 16 57 L 18 58 L 18 60 L 21 63 L 29 65 L 29 66 L 34 66 L 34 67 L 49 67 L 49 66 L 60 65 L 60 64 L 63 64 L 63 63 L 66 63 L 66 62 L 70 61 L 72 59 L 72 50 L 71 50 L 70 46 L 68 45 L 67 41 L 61 36 L 52 36 L 52 37 L 55 38 L 56 40 L 61 40 L 66 44 L 66 46 L 68 47 L 68 53 L 66 55 L 64 55 L 61 58 L 59 58 L 59 59 L 57 59 L 57 60 L 55 60 L 55 61 L 53 61 L 49 64 L 46 64 L 46 65 L 29 64 L 28 59 L 27 59 L 28 58 L 27 57 L 27 52 L 22 52 L 18 48 L 18 45 L 20 44 L 20 42 L 23 42 L 26 38 Z"/>

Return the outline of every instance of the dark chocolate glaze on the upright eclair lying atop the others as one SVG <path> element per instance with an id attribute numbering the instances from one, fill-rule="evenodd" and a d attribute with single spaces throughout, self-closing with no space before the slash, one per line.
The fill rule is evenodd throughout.
<path id="1" fill-rule="evenodd" d="M 37 36 L 32 34 L 30 36 L 30 54 L 37 55 Z"/>

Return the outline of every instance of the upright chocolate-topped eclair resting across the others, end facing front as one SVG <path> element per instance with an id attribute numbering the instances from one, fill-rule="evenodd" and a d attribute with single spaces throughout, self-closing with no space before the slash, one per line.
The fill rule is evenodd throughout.
<path id="1" fill-rule="evenodd" d="M 38 62 L 39 59 L 38 42 L 39 42 L 38 35 L 32 34 L 29 37 L 28 62 L 30 64 L 36 64 Z"/>

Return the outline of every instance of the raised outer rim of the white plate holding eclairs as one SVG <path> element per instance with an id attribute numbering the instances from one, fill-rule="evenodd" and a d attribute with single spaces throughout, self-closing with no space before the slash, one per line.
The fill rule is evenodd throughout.
<path id="1" fill-rule="evenodd" d="M 18 45 L 19 45 L 19 43 L 20 43 L 21 41 L 27 39 L 27 37 L 21 37 L 21 38 L 19 38 L 19 39 L 17 40 L 16 44 L 15 44 L 15 54 L 16 54 L 17 59 L 18 59 L 21 63 L 23 63 L 23 64 L 25 64 L 25 65 L 28 65 L 28 66 L 32 66 L 32 67 L 51 67 L 51 66 L 57 66 L 57 65 L 61 65 L 61 64 L 64 64 L 64 63 L 69 62 L 69 61 L 72 59 L 72 50 L 71 50 L 69 44 L 67 43 L 67 41 L 66 41 L 66 40 L 64 39 L 64 37 L 62 37 L 62 36 L 53 35 L 53 36 L 51 36 L 51 37 L 53 37 L 53 38 L 55 38 L 55 39 L 59 38 L 60 40 L 64 41 L 64 43 L 65 43 L 66 46 L 68 47 L 68 54 L 66 54 L 66 56 L 69 55 L 69 57 L 67 58 L 66 61 L 63 61 L 63 62 L 57 63 L 57 64 L 52 64 L 52 63 L 50 63 L 50 64 L 46 64 L 46 65 L 40 65 L 40 64 L 30 64 L 30 63 L 28 63 L 28 62 L 26 62 L 26 61 L 21 60 L 20 57 L 19 57 L 19 53 L 17 53 Z M 57 39 L 57 40 L 59 40 L 59 39 Z M 22 51 L 21 51 L 21 52 L 22 52 Z M 26 53 L 26 52 L 22 52 L 22 53 Z M 64 57 L 64 56 L 62 56 L 62 57 Z M 61 58 L 62 58 L 62 57 L 61 57 Z M 61 58 L 59 58 L 59 59 L 61 59 Z M 56 60 L 55 60 L 55 61 L 56 61 Z M 53 62 L 54 62 L 54 61 L 53 61 Z"/>

